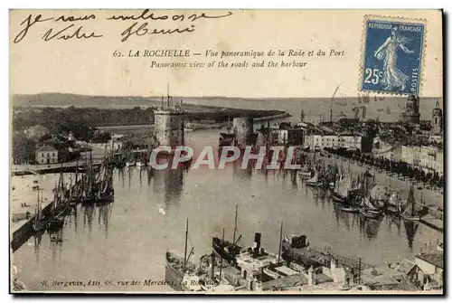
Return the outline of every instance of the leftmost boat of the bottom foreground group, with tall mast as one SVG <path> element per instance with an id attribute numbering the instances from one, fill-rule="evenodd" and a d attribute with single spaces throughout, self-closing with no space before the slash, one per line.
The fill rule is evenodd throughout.
<path id="1" fill-rule="evenodd" d="M 193 254 L 193 248 L 187 256 L 188 245 L 188 218 L 185 227 L 185 251 L 184 258 L 178 251 L 166 251 L 165 259 L 165 280 L 175 290 L 190 290 L 184 286 L 184 277 L 187 274 L 194 273 L 196 270 L 195 265 L 190 261 L 190 257 Z"/>

